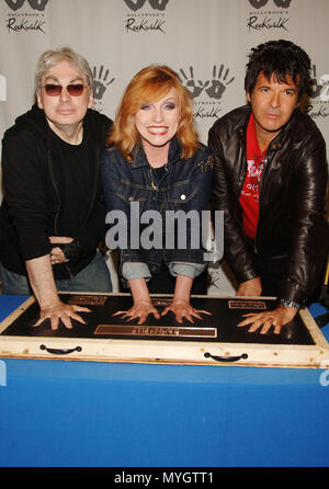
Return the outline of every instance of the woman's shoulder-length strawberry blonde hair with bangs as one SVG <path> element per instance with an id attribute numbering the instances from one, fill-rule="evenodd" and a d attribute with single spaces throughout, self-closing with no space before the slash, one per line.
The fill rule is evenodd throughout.
<path id="1" fill-rule="evenodd" d="M 191 93 L 171 68 L 152 65 L 135 75 L 127 86 L 107 139 L 107 144 L 114 144 L 127 161 L 132 161 L 133 150 L 140 144 L 134 121 L 135 114 L 144 103 L 157 102 L 171 89 L 175 90 L 181 113 L 177 136 L 182 145 L 182 158 L 191 158 L 198 147 L 198 136 L 193 125 Z"/>

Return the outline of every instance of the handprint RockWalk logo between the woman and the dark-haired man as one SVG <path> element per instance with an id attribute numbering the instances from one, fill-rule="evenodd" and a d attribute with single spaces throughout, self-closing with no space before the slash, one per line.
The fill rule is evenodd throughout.
<path id="1" fill-rule="evenodd" d="M 212 77 L 207 79 L 195 79 L 192 66 L 188 70 L 180 68 L 178 75 L 194 99 L 194 117 L 219 118 L 223 95 L 235 80 L 229 68 L 226 68 L 224 64 L 219 67 L 214 65 Z"/>

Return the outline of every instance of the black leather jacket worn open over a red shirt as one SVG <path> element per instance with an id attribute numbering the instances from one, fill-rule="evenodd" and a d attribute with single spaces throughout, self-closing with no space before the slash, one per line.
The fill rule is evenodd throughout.
<path id="1" fill-rule="evenodd" d="M 250 111 L 246 105 L 226 114 L 208 138 L 214 155 L 212 206 L 225 213 L 225 259 L 239 283 L 257 276 L 238 202 L 247 172 Z M 280 298 L 300 305 L 318 285 L 328 251 L 327 182 L 325 140 L 311 118 L 296 110 L 266 151 L 254 251 L 287 258 Z"/>

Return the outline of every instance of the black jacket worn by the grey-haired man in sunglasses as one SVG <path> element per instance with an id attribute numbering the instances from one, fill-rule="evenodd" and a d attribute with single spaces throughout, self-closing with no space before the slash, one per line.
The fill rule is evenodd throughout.
<path id="1" fill-rule="evenodd" d="M 76 275 L 92 260 L 105 232 L 100 158 L 110 125 L 106 116 L 88 110 L 83 134 L 88 135 L 89 158 L 94 167 L 86 195 L 89 211 L 81 216 L 78 226 L 68 221 L 69 213 L 66 212 L 69 202 L 78 198 L 77 189 L 72 182 L 64 204 L 63 162 L 54 156 L 54 135 L 44 111 L 34 105 L 5 132 L 2 140 L 4 198 L 0 208 L 0 260 L 8 270 L 26 274 L 26 260 L 49 253 L 49 236 L 72 237 L 81 247 L 78 262 L 54 266 L 56 278 Z"/>

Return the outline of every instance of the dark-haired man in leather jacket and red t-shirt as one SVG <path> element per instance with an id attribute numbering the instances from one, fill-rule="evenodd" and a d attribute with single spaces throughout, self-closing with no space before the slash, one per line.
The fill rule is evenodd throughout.
<path id="1" fill-rule="evenodd" d="M 209 130 L 214 155 L 213 209 L 225 214 L 225 259 L 239 296 L 275 296 L 273 311 L 238 326 L 274 332 L 290 322 L 317 287 L 328 251 L 325 140 L 300 96 L 310 89 L 310 60 L 288 41 L 252 49 L 248 105 Z"/>

